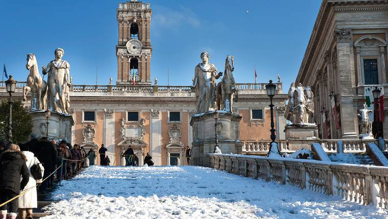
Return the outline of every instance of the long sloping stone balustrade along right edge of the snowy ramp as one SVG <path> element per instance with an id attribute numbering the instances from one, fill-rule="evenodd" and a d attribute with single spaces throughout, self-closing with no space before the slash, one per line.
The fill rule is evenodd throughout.
<path id="1" fill-rule="evenodd" d="M 376 207 L 388 206 L 388 167 L 318 160 L 208 154 L 210 167 Z"/>

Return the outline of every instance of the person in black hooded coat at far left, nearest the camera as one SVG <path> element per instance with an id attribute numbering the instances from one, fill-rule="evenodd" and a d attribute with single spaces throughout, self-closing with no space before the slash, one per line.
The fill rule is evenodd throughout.
<path id="1" fill-rule="evenodd" d="M 30 178 L 26 165 L 26 156 L 20 152 L 19 146 L 12 144 L 10 148 L 0 155 L 0 203 L 4 203 L 20 193 Z M 22 177 L 20 181 L 20 176 Z M 17 201 L 8 203 L 10 216 L 16 217 Z M 0 207 L 0 217 L 6 218 L 7 205 Z M 14 217 L 14 218 L 15 218 Z"/>

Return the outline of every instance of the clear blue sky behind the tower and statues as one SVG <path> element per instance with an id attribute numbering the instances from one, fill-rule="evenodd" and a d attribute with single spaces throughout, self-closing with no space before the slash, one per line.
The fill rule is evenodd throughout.
<path id="1" fill-rule="evenodd" d="M 286 91 L 296 78 L 321 1 L 144 1 L 151 3 L 151 77 L 159 85 L 190 85 L 200 53 L 224 71 L 225 57 L 235 58 L 237 83 L 276 80 Z M 94 85 L 117 78 L 116 8 L 118 1 L 1 1 L 0 63 L 8 74 L 26 80 L 26 54 L 38 65 L 65 50 L 74 84 Z M 249 13 L 246 14 L 246 10 Z"/>

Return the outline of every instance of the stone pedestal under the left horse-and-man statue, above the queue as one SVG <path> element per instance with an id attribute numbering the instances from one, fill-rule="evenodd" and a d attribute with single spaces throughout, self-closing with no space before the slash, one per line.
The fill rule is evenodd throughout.
<path id="1" fill-rule="evenodd" d="M 36 134 L 37 139 L 46 136 L 46 116 L 44 110 L 30 112 L 32 117 L 32 132 Z M 49 139 L 67 139 L 71 142 L 71 126 L 74 125 L 74 120 L 68 114 L 51 112 L 48 119 L 48 138 Z"/>

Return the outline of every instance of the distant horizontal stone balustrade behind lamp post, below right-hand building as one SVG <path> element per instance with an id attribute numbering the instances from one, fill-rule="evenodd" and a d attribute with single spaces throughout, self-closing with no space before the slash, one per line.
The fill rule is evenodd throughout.
<path id="1" fill-rule="evenodd" d="M 344 153 L 363 153 L 366 151 L 368 143 L 374 143 L 376 140 L 345 140 L 345 139 L 322 139 L 311 140 L 308 143 L 319 143 L 326 153 L 337 153 L 338 145 L 342 142 Z M 266 154 L 270 149 L 271 140 L 241 140 L 243 142 L 243 154 Z M 278 149 L 280 152 L 293 152 L 288 147 L 288 141 L 277 140 Z M 388 139 L 384 140 L 384 151 L 388 151 Z"/>

